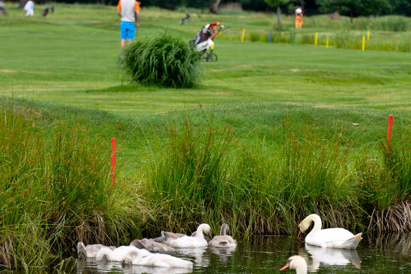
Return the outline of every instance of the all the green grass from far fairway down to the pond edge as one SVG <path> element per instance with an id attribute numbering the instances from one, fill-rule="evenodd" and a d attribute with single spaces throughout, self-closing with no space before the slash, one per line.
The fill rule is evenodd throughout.
<path id="1" fill-rule="evenodd" d="M 192 14 L 179 25 L 182 12 L 142 9 L 138 36 L 166 30 L 188 41 L 210 21 L 232 25 L 216 37 L 219 62 L 201 63 L 201 84 L 177 89 L 123 77 L 114 7 L 58 4 L 47 18 L 6 8 L 1 264 L 43 265 L 73 255 L 77 240 L 124 245 L 202 222 L 216 233 L 227 221 L 237 238 L 292 234 L 309 212 L 356 232 L 368 229 L 370 216 L 375 230 L 411 228 L 399 218 L 411 197 L 410 54 L 299 45 L 312 42 L 316 29 L 321 45 L 326 32 L 360 37 L 362 29 L 344 27 L 347 18 L 306 18 L 295 38 L 286 30 L 282 43 L 269 44 L 257 40 L 266 39 L 274 16 Z M 284 20 L 290 29 L 292 18 Z M 256 42 L 240 42 L 242 27 Z M 409 36 L 375 32 L 386 40 Z M 114 187 L 112 137 L 119 145 Z M 384 212 L 399 221 L 384 223 Z M 1 253 L 4 247 L 16 252 Z"/>

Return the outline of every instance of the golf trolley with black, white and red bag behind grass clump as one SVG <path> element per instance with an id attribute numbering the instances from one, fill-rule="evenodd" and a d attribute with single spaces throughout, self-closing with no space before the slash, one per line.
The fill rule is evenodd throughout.
<path id="1" fill-rule="evenodd" d="M 219 29 L 216 29 L 216 26 L 220 26 Z M 201 59 L 208 61 L 215 61 L 219 60 L 216 53 L 214 53 L 214 37 L 220 32 L 223 32 L 225 29 L 229 27 L 224 27 L 220 25 L 219 22 L 212 22 L 210 24 L 205 25 L 201 30 L 198 32 L 197 37 L 195 39 L 190 40 L 190 44 L 195 45 L 197 51 L 201 54 Z"/>

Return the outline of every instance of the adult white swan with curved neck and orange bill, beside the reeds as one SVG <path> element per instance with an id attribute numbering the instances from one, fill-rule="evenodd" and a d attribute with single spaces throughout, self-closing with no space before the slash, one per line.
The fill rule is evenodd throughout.
<path id="1" fill-rule="evenodd" d="M 311 223 L 314 222 L 314 227 L 306 236 L 306 243 L 308 245 L 316 245 L 317 247 L 332 247 L 340 249 L 356 249 L 358 242 L 360 242 L 362 233 L 354 236 L 347 229 L 341 227 L 321 229 L 321 218 L 317 214 L 310 214 L 303 219 L 298 226 L 297 240 L 299 240 L 301 233 L 305 232 Z"/>

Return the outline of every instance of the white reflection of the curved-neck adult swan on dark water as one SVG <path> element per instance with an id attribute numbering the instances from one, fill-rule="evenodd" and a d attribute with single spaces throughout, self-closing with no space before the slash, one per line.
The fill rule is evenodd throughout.
<path id="1" fill-rule="evenodd" d="M 311 263 L 308 260 L 308 254 L 312 258 Z M 309 271 L 317 271 L 321 264 L 325 264 L 325 266 L 344 266 L 351 263 L 357 269 L 361 268 L 361 260 L 356 249 L 332 249 L 306 244 L 305 251 L 300 251 L 299 255 L 308 261 Z"/>

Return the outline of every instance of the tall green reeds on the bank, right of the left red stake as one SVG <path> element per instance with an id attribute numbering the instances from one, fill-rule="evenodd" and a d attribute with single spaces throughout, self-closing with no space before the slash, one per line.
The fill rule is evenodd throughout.
<path id="1" fill-rule="evenodd" d="M 319 136 L 312 125 L 284 127 L 279 142 L 271 143 L 253 134 L 237 140 L 229 125 L 216 126 L 212 118 L 201 126 L 185 119 L 166 130 L 168 141 L 158 143 L 145 167 L 149 203 L 157 205 L 157 226 L 165 229 L 192 231 L 206 221 L 214 229 L 228 222 L 234 235 L 245 237 L 293 234 L 316 212 L 327 226 L 366 231 L 375 210 L 409 199 L 405 182 L 391 182 L 394 175 L 409 178 L 408 154 L 390 153 L 401 162 L 401 175 L 388 176 L 386 160 L 353 153 L 348 140 Z M 398 140 L 402 153 L 406 142 Z"/>

